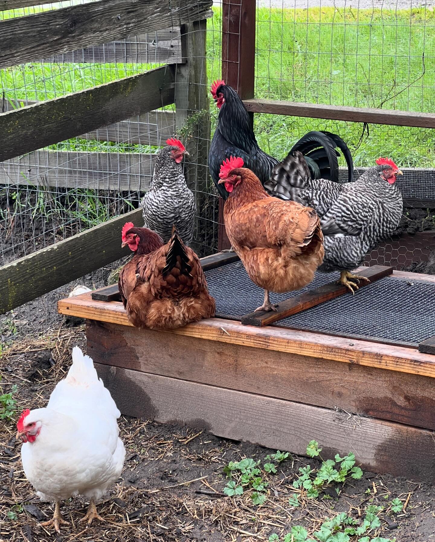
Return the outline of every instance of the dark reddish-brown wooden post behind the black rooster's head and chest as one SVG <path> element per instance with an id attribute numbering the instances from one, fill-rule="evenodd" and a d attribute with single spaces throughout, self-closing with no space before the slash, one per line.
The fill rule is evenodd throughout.
<path id="1" fill-rule="evenodd" d="M 254 97 L 255 0 L 223 0 L 222 79 L 242 100 Z M 252 123 L 254 115 L 251 114 Z M 219 198 L 219 250 L 228 249 L 223 224 L 223 200 Z"/>

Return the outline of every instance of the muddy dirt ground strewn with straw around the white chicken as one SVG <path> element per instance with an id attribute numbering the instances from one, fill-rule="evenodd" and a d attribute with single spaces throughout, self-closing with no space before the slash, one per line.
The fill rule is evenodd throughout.
<path id="1" fill-rule="evenodd" d="M 21 341 L 3 353 L 0 386 L 5 393 L 17 386 L 17 412 L 46 404 L 55 383 L 66 375 L 75 344 L 85 347 L 82 328 L 60 329 L 38 341 Z M 318 498 L 308 499 L 306 491 L 295 489 L 292 483 L 300 467 L 309 464 L 318 468 L 319 462 L 289 456 L 278 464 L 276 474 L 263 473 L 269 485 L 264 504 L 257 506 L 252 502 L 252 491 L 241 496 L 222 493 L 228 481 L 223 468 L 245 457 L 264 464 L 266 455 L 276 450 L 225 440 L 205 431 L 198 433 L 188 427 L 126 417 L 119 422 L 126 446 L 124 471 L 112 493 L 99 504 L 106 521 L 83 530 L 78 520 L 86 512 L 86 502 L 73 499 L 62 503 L 62 512 L 71 526 L 62 526 L 62 533 L 57 535 L 37 527 L 38 521 L 51 517 L 52 506 L 41 503 L 25 481 L 20 444 L 15 442 L 15 423 L 2 422 L 0 541 L 254 542 L 267 541 L 273 533 L 282 541 L 291 527 L 303 526 L 311 535 L 327 518 L 341 512 L 360 525 L 370 505 L 383 507 L 378 515 L 380 524 L 367 539 L 370 542 L 435 540 L 435 489 L 426 483 L 364 473 L 360 480 L 339 484 L 338 496 L 331 486 Z M 289 504 L 289 498 L 295 495 L 298 507 Z M 394 498 L 406 504 L 399 513 L 392 512 Z M 332 542 L 336 540 L 356 542 L 358 537 Z"/>

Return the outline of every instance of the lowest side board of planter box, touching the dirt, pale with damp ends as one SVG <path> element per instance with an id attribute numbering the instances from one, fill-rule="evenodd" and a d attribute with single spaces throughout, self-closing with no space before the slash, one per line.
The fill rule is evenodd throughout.
<path id="1" fill-rule="evenodd" d="M 187 424 L 299 455 L 315 436 L 327 457 L 351 450 L 364 469 L 435 480 L 432 431 L 177 378 L 96 368 L 124 415 Z"/>

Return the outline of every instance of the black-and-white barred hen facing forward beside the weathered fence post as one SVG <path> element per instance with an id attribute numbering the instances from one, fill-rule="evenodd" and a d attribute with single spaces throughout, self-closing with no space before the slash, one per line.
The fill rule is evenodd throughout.
<path id="1" fill-rule="evenodd" d="M 158 233 L 167 243 L 175 225 L 183 243 L 189 245 L 193 240 L 196 204 L 181 165 L 183 156 L 189 153 L 178 139 L 168 139 L 166 143 L 168 146 L 157 154 L 150 188 L 142 200 L 144 227 Z"/>

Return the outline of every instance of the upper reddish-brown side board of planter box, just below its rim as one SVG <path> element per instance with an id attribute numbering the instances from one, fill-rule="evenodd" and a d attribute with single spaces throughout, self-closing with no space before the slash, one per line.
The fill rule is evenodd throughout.
<path id="1" fill-rule="evenodd" d="M 435 429 L 433 380 L 88 321 L 94 362 Z"/>

